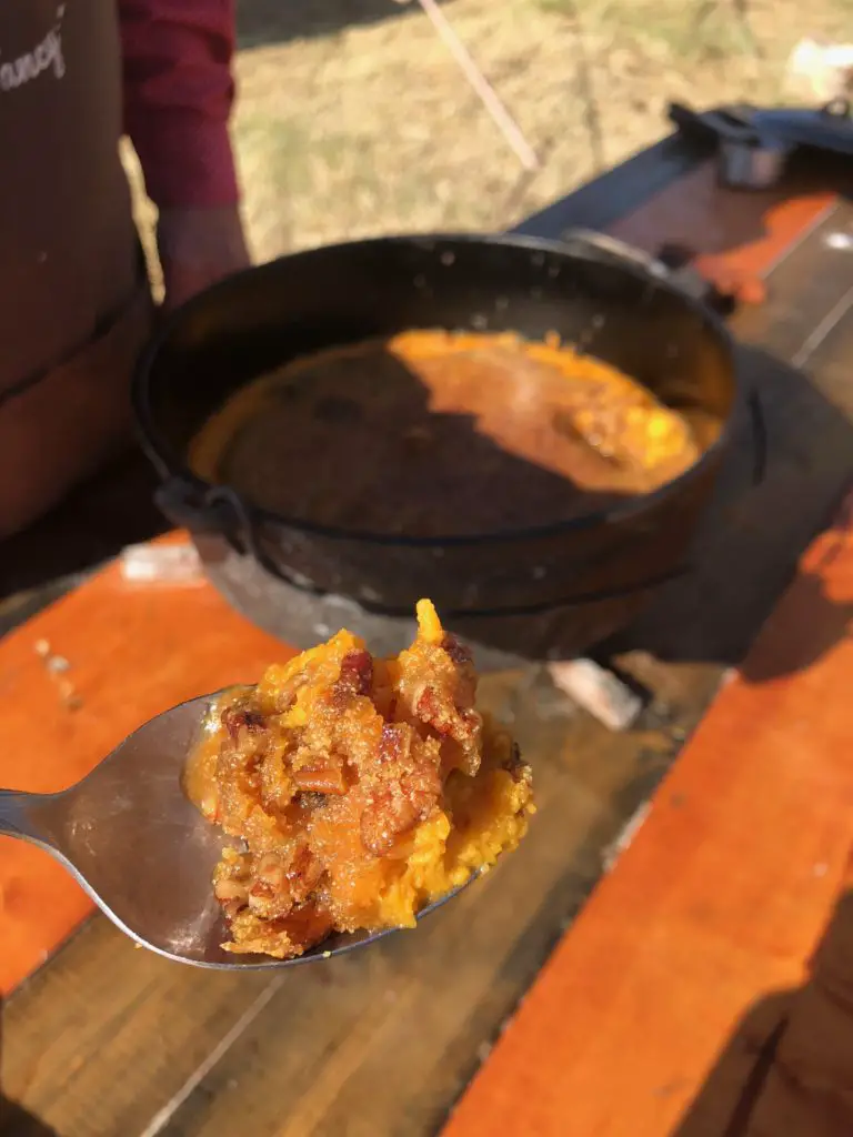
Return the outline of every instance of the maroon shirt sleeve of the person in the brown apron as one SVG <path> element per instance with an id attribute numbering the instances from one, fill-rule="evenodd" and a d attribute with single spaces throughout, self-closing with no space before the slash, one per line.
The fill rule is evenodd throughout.
<path id="1" fill-rule="evenodd" d="M 227 122 L 234 0 L 118 0 L 124 126 L 158 206 L 238 199 Z"/>

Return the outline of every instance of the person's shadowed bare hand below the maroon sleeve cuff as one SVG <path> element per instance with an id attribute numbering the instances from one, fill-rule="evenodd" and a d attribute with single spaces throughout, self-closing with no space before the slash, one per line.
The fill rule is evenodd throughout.
<path id="1" fill-rule="evenodd" d="M 167 312 L 250 264 L 237 206 L 162 209 L 157 248 Z"/>

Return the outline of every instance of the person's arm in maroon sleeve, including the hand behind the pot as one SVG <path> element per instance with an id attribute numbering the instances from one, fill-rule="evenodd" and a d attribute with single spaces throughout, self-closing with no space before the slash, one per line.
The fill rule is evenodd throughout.
<path id="1" fill-rule="evenodd" d="M 174 306 L 248 264 L 227 128 L 234 0 L 118 0 L 118 13 L 125 130 Z"/>

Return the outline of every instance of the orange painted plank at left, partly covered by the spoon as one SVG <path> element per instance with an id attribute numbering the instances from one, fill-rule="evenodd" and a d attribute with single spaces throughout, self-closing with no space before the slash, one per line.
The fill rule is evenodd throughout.
<path id="1" fill-rule="evenodd" d="M 66 673 L 51 674 L 40 640 L 68 661 Z M 208 583 L 131 584 L 113 564 L 0 641 L 0 786 L 63 789 L 152 715 L 254 681 L 292 654 Z M 63 697 L 63 680 L 74 698 Z M 47 853 L 0 838 L 0 991 L 43 962 L 91 908 Z"/>

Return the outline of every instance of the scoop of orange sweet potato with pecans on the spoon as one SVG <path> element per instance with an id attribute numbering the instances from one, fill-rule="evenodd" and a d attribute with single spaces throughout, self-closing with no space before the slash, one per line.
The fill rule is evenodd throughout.
<path id="1" fill-rule="evenodd" d="M 227 951 L 290 958 L 413 927 L 524 835 L 530 769 L 475 709 L 467 649 L 429 600 L 417 617 L 396 658 L 340 631 L 215 707 L 187 788 L 240 843 L 214 875 Z"/>

